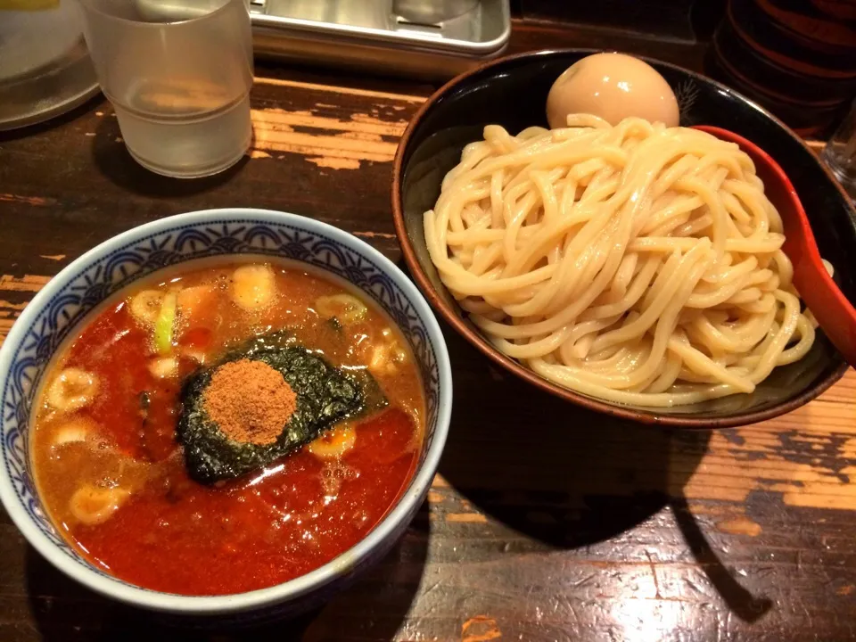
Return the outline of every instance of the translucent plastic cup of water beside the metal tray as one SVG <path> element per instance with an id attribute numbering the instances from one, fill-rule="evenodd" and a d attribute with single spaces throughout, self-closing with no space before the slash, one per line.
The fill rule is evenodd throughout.
<path id="1" fill-rule="evenodd" d="M 246 0 L 80 0 L 98 81 L 128 152 L 169 177 L 210 176 L 250 146 Z"/>

